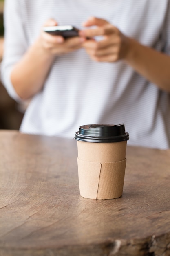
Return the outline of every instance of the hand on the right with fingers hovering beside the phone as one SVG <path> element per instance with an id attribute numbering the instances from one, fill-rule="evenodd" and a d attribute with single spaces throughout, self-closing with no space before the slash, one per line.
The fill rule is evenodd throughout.
<path id="1" fill-rule="evenodd" d="M 83 47 L 89 56 L 99 62 L 115 62 L 126 56 L 128 52 L 128 37 L 124 36 L 117 27 L 106 20 L 91 17 L 83 23 L 84 27 L 96 26 L 94 29 L 79 31 L 79 35 L 85 38 Z M 103 36 L 96 41 L 93 37 Z"/>

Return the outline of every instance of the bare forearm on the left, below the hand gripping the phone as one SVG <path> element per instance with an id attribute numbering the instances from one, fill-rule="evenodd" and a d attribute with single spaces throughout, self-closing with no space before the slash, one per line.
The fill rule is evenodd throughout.
<path id="1" fill-rule="evenodd" d="M 22 99 L 29 99 L 42 89 L 53 60 L 54 56 L 41 47 L 38 39 L 15 64 L 11 82 Z"/>

